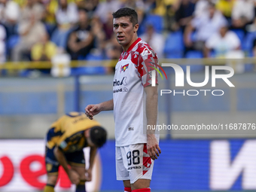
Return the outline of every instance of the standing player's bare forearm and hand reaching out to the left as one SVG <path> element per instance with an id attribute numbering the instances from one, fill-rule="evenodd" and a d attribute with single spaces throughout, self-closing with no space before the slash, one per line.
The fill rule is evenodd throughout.
<path id="1" fill-rule="evenodd" d="M 89 117 L 91 120 L 93 120 L 93 116 L 96 114 L 99 114 L 100 111 L 111 111 L 114 109 L 114 102 L 113 99 L 101 102 L 96 105 L 87 105 L 86 108 L 84 108 L 85 114 L 87 114 L 87 117 Z"/>

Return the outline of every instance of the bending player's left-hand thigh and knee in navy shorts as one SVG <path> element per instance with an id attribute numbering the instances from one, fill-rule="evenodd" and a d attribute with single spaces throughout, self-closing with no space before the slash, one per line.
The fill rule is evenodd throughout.
<path id="1" fill-rule="evenodd" d="M 59 162 L 53 154 L 53 149 L 45 149 L 45 166 L 47 170 L 47 184 L 55 185 L 59 174 Z"/>

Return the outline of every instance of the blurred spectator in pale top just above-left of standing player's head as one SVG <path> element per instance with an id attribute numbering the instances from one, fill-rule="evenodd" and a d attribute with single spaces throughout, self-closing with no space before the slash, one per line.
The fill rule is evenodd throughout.
<path id="1" fill-rule="evenodd" d="M 102 23 L 106 23 L 108 19 L 106 15 L 108 15 L 108 13 L 117 11 L 119 8 L 121 8 L 120 1 L 106 0 L 105 2 L 99 3 L 98 7 L 96 8 L 94 17 L 99 17 Z"/>

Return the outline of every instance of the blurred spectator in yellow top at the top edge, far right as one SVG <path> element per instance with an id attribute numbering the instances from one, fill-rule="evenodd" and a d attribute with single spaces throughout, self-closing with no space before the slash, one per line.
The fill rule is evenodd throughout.
<path id="1" fill-rule="evenodd" d="M 233 5 L 236 0 L 218 0 L 216 8 L 226 17 L 227 20 L 231 19 Z"/>

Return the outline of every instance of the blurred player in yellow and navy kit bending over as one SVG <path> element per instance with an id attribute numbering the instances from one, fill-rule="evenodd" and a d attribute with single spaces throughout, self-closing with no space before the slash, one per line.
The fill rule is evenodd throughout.
<path id="1" fill-rule="evenodd" d="M 106 142 L 105 129 L 96 120 L 89 120 L 85 114 L 78 112 L 60 117 L 50 127 L 45 154 L 47 185 L 44 192 L 54 192 L 59 165 L 69 175 L 70 181 L 76 184 L 75 191 L 85 192 L 85 181 L 91 181 L 92 178 L 96 150 Z M 83 151 L 86 147 L 90 147 L 90 166 L 87 170 Z"/>

